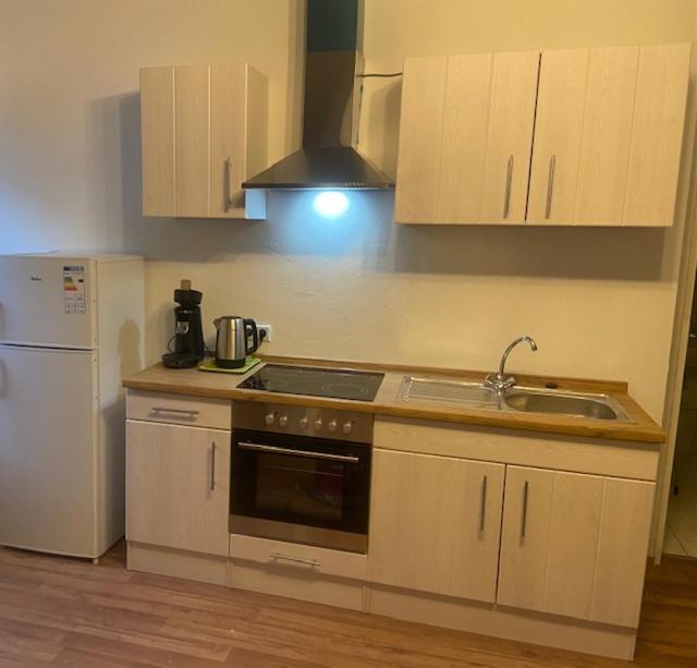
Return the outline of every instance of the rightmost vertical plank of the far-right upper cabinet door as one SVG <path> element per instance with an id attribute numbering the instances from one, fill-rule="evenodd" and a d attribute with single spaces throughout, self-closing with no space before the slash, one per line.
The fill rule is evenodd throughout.
<path id="1" fill-rule="evenodd" d="M 673 224 L 689 59 L 687 44 L 641 47 L 625 224 Z"/>

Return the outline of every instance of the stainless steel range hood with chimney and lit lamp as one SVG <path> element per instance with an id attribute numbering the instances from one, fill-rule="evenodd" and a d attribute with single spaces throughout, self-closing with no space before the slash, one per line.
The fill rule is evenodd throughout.
<path id="1" fill-rule="evenodd" d="M 307 0 L 303 148 L 242 184 L 253 190 L 388 189 L 394 184 L 355 148 L 363 2 Z"/>

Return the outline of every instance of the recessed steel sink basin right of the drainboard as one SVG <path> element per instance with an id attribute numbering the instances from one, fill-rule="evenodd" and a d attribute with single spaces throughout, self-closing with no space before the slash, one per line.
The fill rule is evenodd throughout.
<path id="1" fill-rule="evenodd" d="M 503 402 L 510 409 L 522 413 L 553 413 L 575 415 L 592 420 L 626 420 L 624 412 L 608 394 L 576 394 L 552 391 L 512 389 Z"/>

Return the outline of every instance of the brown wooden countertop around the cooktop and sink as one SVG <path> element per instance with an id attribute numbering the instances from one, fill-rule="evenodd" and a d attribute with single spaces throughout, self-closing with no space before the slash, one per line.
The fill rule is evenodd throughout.
<path id="1" fill-rule="evenodd" d="M 323 399 L 265 392 L 260 390 L 237 389 L 237 385 L 256 373 L 260 365 L 246 374 L 203 373 L 196 368 L 170 369 L 156 364 L 123 381 L 123 386 L 133 390 L 147 390 L 172 394 L 194 397 L 213 397 L 235 401 L 260 401 L 307 405 L 314 408 L 333 408 L 392 415 L 415 420 L 433 420 L 457 424 L 524 429 L 548 434 L 567 434 L 586 438 L 607 438 L 611 440 L 634 441 L 660 445 L 665 440 L 665 433 L 657 425 L 627 393 L 626 382 L 595 381 L 574 378 L 555 378 L 516 375 L 518 385 L 543 388 L 554 382 L 560 390 L 602 392 L 612 394 L 622 405 L 631 422 L 609 420 L 591 420 L 565 415 L 540 413 L 516 413 L 491 410 L 466 409 L 455 405 L 438 405 L 415 401 L 398 401 L 396 396 L 404 375 L 416 375 L 429 378 L 450 378 L 456 380 L 481 381 L 482 372 L 465 372 L 442 368 L 407 367 L 367 364 L 360 362 L 342 362 L 337 360 L 311 360 L 306 357 L 264 356 L 264 363 L 299 364 L 304 366 L 327 366 L 332 368 L 350 368 L 356 371 L 378 371 L 384 373 L 375 401 L 348 401 L 343 399 Z"/>

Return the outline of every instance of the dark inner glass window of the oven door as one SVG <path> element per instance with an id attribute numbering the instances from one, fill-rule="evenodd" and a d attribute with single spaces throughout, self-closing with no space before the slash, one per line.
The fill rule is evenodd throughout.
<path id="1" fill-rule="evenodd" d="M 261 454 L 257 460 L 256 508 L 262 513 L 341 522 L 344 464 L 310 458 Z"/>

